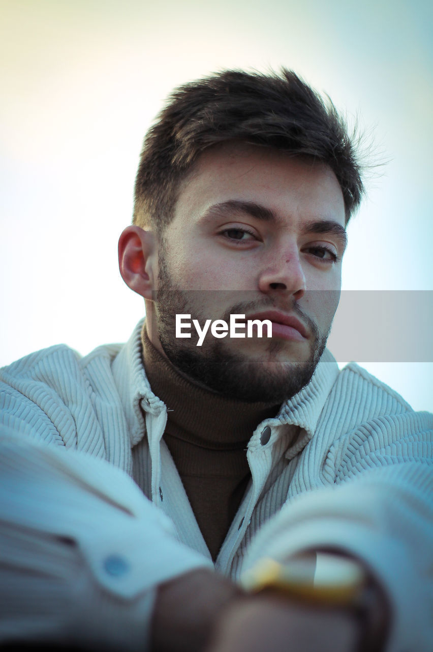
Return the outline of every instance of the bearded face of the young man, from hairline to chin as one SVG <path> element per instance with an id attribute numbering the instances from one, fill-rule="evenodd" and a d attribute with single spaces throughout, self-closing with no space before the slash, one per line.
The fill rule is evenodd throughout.
<path id="1" fill-rule="evenodd" d="M 159 250 L 151 339 L 181 372 L 233 398 L 278 403 L 309 382 L 341 286 L 345 207 L 308 158 L 246 143 L 203 153 Z M 176 314 L 272 321 L 272 338 L 176 338 Z M 244 331 L 246 332 L 246 331 Z M 156 334 L 157 333 L 157 334 Z"/>

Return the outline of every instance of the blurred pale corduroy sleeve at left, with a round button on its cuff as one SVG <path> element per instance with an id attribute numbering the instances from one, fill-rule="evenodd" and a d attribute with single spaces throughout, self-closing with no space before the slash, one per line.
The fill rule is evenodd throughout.
<path id="1" fill-rule="evenodd" d="M 0 431 L 0 643 L 145 650 L 155 587 L 212 564 L 123 471 Z"/>

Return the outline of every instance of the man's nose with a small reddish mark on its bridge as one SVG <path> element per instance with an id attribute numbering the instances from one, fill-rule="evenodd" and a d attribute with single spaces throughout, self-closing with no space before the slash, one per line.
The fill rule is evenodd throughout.
<path id="1" fill-rule="evenodd" d="M 286 249 L 280 256 L 274 252 L 269 267 L 259 276 L 259 290 L 267 294 L 276 290 L 289 291 L 295 301 L 304 296 L 306 278 L 297 247 Z"/>

